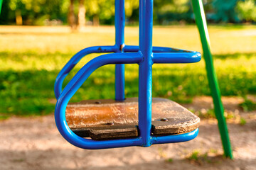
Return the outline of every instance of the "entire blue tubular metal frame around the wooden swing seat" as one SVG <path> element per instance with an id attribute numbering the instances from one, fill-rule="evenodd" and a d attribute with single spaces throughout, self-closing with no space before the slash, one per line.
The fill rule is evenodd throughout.
<path id="1" fill-rule="evenodd" d="M 139 1 L 139 46 L 124 45 L 124 0 L 115 1 L 116 44 L 97 46 L 81 50 L 63 67 L 55 81 L 55 123 L 60 134 L 71 144 L 84 149 L 105 149 L 113 147 L 142 146 L 185 142 L 198 135 L 198 129 L 181 135 L 154 137 L 151 135 L 152 64 L 154 63 L 193 63 L 201 60 L 199 52 L 179 50 L 169 47 L 152 47 L 153 0 Z M 63 80 L 82 57 L 92 52 L 114 52 L 100 55 L 85 64 L 62 91 Z M 94 141 L 75 135 L 68 127 L 65 110 L 68 101 L 82 86 L 85 80 L 105 64 L 116 64 L 117 101 L 124 100 L 124 64 L 139 64 L 139 137 L 126 140 Z"/>

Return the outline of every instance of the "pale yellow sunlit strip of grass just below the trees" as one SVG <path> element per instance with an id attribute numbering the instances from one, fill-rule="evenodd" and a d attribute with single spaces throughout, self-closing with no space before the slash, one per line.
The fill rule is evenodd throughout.
<path id="1" fill-rule="evenodd" d="M 210 26 L 213 54 L 256 52 L 256 26 Z M 139 28 L 125 29 L 127 45 L 139 44 Z M 75 53 L 93 45 L 114 45 L 114 27 L 87 27 L 82 33 L 70 33 L 68 27 L 0 26 L 0 51 L 36 51 Z M 156 26 L 153 45 L 179 47 L 201 52 L 196 26 Z"/>

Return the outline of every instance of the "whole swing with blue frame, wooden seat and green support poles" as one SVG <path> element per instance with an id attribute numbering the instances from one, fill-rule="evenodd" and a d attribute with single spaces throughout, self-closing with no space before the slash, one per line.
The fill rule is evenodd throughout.
<path id="1" fill-rule="evenodd" d="M 2 0 L 0 0 L 0 13 L 1 4 Z M 228 128 L 223 116 L 223 104 L 220 99 L 218 81 L 210 54 L 210 41 L 203 11 L 203 3 L 201 0 L 192 0 L 192 4 L 203 46 L 206 71 L 210 91 L 213 96 L 215 115 L 218 119 L 218 128 L 223 142 L 224 154 L 226 157 L 232 159 L 233 155 L 228 137 Z M 124 45 L 124 0 L 116 0 L 116 44 L 113 46 L 89 47 L 81 50 L 60 71 L 55 81 L 55 96 L 58 98 L 55 107 L 55 121 L 61 135 L 63 135 L 68 142 L 77 147 L 87 149 L 127 146 L 148 147 L 159 143 L 185 142 L 192 140 L 198 135 L 199 119 L 196 115 L 193 115 L 193 113 L 190 113 L 173 101 L 151 98 L 151 67 L 154 63 L 198 62 L 201 60 L 201 55 L 198 52 L 188 50 L 178 50 L 169 47 L 152 47 L 152 16 L 153 0 L 140 0 L 139 47 Z M 85 64 L 62 91 L 63 80 L 70 70 L 73 69 L 75 64 L 85 55 L 100 52 L 114 53 L 102 55 Z M 125 99 L 124 64 L 134 63 L 139 64 L 139 99 Z M 68 101 L 87 77 L 89 77 L 95 69 L 105 64 L 116 64 L 115 101 L 82 101 L 81 103 L 68 106 Z M 138 100 L 139 106 L 137 103 Z M 78 113 L 78 115 L 82 115 L 86 111 L 87 113 L 96 111 L 97 109 L 95 108 L 98 109 L 98 113 L 103 113 L 98 114 L 101 116 L 99 118 L 102 118 L 102 120 L 100 120 L 102 125 L 97 124 L 99 121 L 90 119 L 87 121 L 87 125 L 85 118 L 73 116 L 74 112 Z M 114 111 L 111 110 L 112 108 L 114 108 Z M 131 110 L 131 108 L 134 109 Z M 137 127 L 138 112 L 139 126 Z M 70 130 L 68 126 L 65 113 L 67 113 L 67 117 L 70 116 L 71 118 L 69 121 L 70 126 L 74 127 L 73 130 Z M 126 114 L 129 113 L 130 115 L 126 117 Z M 152 116 L 151 113 L 153 113 Z M 92 113 L 92 115 L 97 117 L 97 113 Z M 122 116 L 120 117 L 120 115 Z M 114 120 L 113 118 L 116 119 Z M 113 120 L 118 121 L 119 118 L 122 118 L 124 126 L 114 125 Z M 154 120 L 152 123 L 151 119 Z M 175 122 L 173 120 L 178 121 Z M 83 138 L 88 136 L 94 140 Z M 119 140 L 116 140 L 117 138 Z"/>

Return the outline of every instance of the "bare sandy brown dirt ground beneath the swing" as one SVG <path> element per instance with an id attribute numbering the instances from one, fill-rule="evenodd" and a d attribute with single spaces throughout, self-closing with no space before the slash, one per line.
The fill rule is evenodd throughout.
<path id="1" fill-rule="evenodd" d="M 198 137 L 189 142 L 85 150 L 66 142 L 53 115 L 48 115 L 0 121 L 0 169 L 256 169 L 256 112 L 243 112 L 238 106 L 241 100 L 223 98 L 226 114 L 233 115 L 228 120 L 233 160 L 222 156 L 213 118 L 201 119 Z M 198 97 L 185 106 L 204 113 L 212 101 Z"/>

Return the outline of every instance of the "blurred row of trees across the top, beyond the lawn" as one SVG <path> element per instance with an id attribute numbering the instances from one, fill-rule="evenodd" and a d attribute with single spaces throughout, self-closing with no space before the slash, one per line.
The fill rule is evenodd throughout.
<path id="1" fill-rule="evenodd" d="M 204 0 L 212 23 L 256 21 L 256 0 Z M 139 1 L 126 0 L 128 23 L 139 21 Z M 154 23 L 194 22 L 190 0 L 154 0 Z M 114 23 L 114 0 L 4 0 L 0 24 L 55 25 L 72 28 Z"/>

